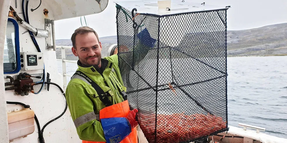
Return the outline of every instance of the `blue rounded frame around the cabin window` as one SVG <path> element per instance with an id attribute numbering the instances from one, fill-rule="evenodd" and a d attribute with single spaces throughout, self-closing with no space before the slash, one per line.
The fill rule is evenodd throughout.
<path id="1" fill-rule="evenodd" d="M 8 21 L 12 22 L 15 28 L 15 56 L 16 56 L 16 69 L 13 71 L 4 71 L 4 74 L 13 74 L 13 73 L 18 73 L 21 70 L 21 66 L 20 66 L 20 44 L 19 44 L 19 25 L 17 23 L 16 20 L 12 19 L 12 18 L 8 18 Z M 8 22 L 7 22 L 8 23 Z M 7 26 L 7 25 L 6 25 Z M 6 33 L 5 33 L 6 34 Z M 4 63 L 3 63 L 3 69 L 5 69 L 4 67 Z"/>

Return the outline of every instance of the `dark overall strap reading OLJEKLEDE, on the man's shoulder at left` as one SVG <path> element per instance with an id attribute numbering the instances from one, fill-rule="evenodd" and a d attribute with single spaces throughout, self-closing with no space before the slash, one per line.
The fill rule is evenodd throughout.
<path id="1" fill-rule="evenodd" d="M 112 102 L 110 101 L 110 99 L 107 98 L 107 93 L 105 93 L 102 88 L 96 84 L 93 80 L 91 80 L 87 75 L 85 75 L 83 72 L 77 70 L 76 73 L 74 73 L 74 75 L 80 75 L 81 77 L 84 77 L 84 79 L 86 79 L 88 81 L 88 83 L 90 83 L 92 85 L 92 87 L 94 87 L 94 89 L 96 90 L 96 92 L 98 93 L 100 100 L 105 104 L 105 106 L 111 106 Z"/>

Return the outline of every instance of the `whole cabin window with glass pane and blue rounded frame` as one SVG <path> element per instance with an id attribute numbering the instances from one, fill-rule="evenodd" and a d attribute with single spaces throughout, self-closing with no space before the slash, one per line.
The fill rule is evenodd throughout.
<path id="1" fill-rule="evenodd" d="M 20 70 L 19 26 L 16 20 L 8 18 L 4 44 L 4 74 Z"/>

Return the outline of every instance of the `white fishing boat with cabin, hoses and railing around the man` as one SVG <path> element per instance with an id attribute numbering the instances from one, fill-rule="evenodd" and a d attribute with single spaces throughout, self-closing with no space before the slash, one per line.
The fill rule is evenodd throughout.
<path id="1" fill-rule="evenodd" d="M 80 143 L 64 97 L 65 49 L 56 45 L 55 20 L 100 13 L 108 0 L 5 0 L 0 3 L 0 142 Z M 8 17 L 9 16 L 9 17 Z M 112 45 L 108 55 L 115 54 Z M 61 49 L 62 58 L 56 58 Z M 57 61 L 62 61 L 58 73 Z M 198 142 L 286 143 L 265 128 L 238 124 Z M 138 127 L 140 143 L 147 143 Z"/>

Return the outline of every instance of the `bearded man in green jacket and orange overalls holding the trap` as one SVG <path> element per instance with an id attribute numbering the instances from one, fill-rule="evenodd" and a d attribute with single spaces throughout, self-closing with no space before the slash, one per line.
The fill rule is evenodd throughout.
<path id="1" fill-rule="evenodd" d="M 88 26 L 76 29 L 71 41 L 79 60 L 66 100 L 78 136 L 83 143 L 137 143 L 137 109 L 129 109 L 117 55 L 101 58 L 98 34 Z"/>

